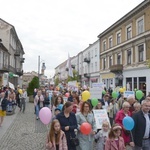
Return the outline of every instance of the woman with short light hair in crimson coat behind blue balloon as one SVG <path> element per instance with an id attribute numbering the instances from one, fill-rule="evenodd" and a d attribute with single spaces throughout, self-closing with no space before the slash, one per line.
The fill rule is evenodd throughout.
<path id="1" fill-rule="evenodd" d="M 127 131 L 123 127 L 123 118 L 126 116 L 131 116 L 131 113 L 129 111 L 130 104 L 128 102 L 124 102 L 122 105 L 122 109 L 117 112 L 116 117 L 115 117 L 115 123 L 118 123 L 122 127 L 122 137 L 124 139 L 126 147 L 132 146 L 130 145 L 131 138 L 130 138 L 130 132 Z"/>

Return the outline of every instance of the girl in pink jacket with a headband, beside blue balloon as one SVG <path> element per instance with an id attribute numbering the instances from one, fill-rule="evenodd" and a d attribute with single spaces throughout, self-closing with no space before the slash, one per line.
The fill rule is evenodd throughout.
<path id="1" fill-rule="evenodd" d="M 120 136 L 122 127 L 118 124 L 114 124 L 108 134 L 108 138 L 105 143 L 105 150 L 126 150 L 124 140 Z"/>

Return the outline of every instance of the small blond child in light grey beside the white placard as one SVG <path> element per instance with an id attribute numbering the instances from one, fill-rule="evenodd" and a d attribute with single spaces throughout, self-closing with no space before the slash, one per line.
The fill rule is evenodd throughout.
<path id="1" fill-rule="evenodd" d="M 109 132 L 109 123 L 108 121 L 104 121 L 102 123 L 102 130 L 100 130 L 97 134 L 94 135 L 95 140 L 97 140 L 95 144 L 95 150 L 103 150 L 105 146 L 106 138 L 108 137 Z"/>

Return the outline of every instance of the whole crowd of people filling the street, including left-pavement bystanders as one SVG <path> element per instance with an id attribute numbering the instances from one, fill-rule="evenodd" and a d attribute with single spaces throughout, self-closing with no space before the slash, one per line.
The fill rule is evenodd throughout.
<path id="1" fill-rule="evenodd" d="M 52 112 L 50 131 L 47 134 L 48 150 L 150 150 L 150 95 L 137 100 L 136 96 L 124 97 L 122 92 L 117 98 L 107 91 L 98 104 L 93 106 L 91 100 L 82 100 L 82 92 L 49 91 L 35 89 L 34 110 L 37 121 L 39 112 L 48 107 Z M 15 101 L 20 111 L 25 111 L 26 91 L 5 89 L 1 91 L 0 125 L 3 122 L 9 103 Z M 67 101 L 64 97 L 67 96 Z M 18 97 L 18 98 L 17 98 Z M 18 101 L 19 99 L 19 101 Z M 11 105 L 10 105 L 11 106 Z M 106 109 L 109 121 L 102 122 L 97 129 L 93 114 L 94 109 Z M 123 119 L 130 116 L 134 120 L 133 129 L 127 130 Z M 88 134 L 82 132 L 83 123 L 91 125 Z M 88 126 L 84 126 L 88 128 Z"/>

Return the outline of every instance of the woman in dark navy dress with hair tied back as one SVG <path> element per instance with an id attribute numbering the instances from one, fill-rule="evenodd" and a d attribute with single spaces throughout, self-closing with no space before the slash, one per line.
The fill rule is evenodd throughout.
<path id="1" fill-rule="evenodd" d="M 63 111 L 56 116 L 59 120 L 61 129 L 65 132 L 67 138 L 68 150 L 76 150 L 74 145 L 71 145 L 71 138 L 74 138 L 77 129 L 77 120 L 75 114 L 72 112 L 72 103 L 67 101 L 64 104 Z"/>

